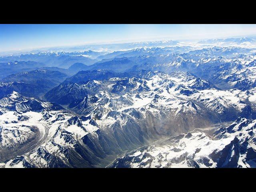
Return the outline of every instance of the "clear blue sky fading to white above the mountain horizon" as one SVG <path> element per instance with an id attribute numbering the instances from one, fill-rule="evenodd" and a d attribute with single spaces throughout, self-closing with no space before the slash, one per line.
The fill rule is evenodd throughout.
<path id="1" fill-rule="evenodd" d="M 256 35 L 255 24 L 0 24 L 0 51 Z"/>

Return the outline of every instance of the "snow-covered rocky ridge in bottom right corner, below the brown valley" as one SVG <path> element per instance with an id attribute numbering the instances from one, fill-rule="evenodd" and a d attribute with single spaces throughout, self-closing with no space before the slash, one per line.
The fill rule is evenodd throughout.
<path id="1" fill-rule="evenodd" d="M 238 118 L 120 154 L 110 168 L 254 168 L 255 120 Z"/>

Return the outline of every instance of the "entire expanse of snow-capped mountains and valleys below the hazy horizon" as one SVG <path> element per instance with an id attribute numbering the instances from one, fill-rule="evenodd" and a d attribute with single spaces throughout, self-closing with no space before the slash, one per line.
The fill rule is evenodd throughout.
<path id="1" fill-rule="evenodd" d="M 244 42 L 0 58 L 0 167 L 256 167 Z"/>

